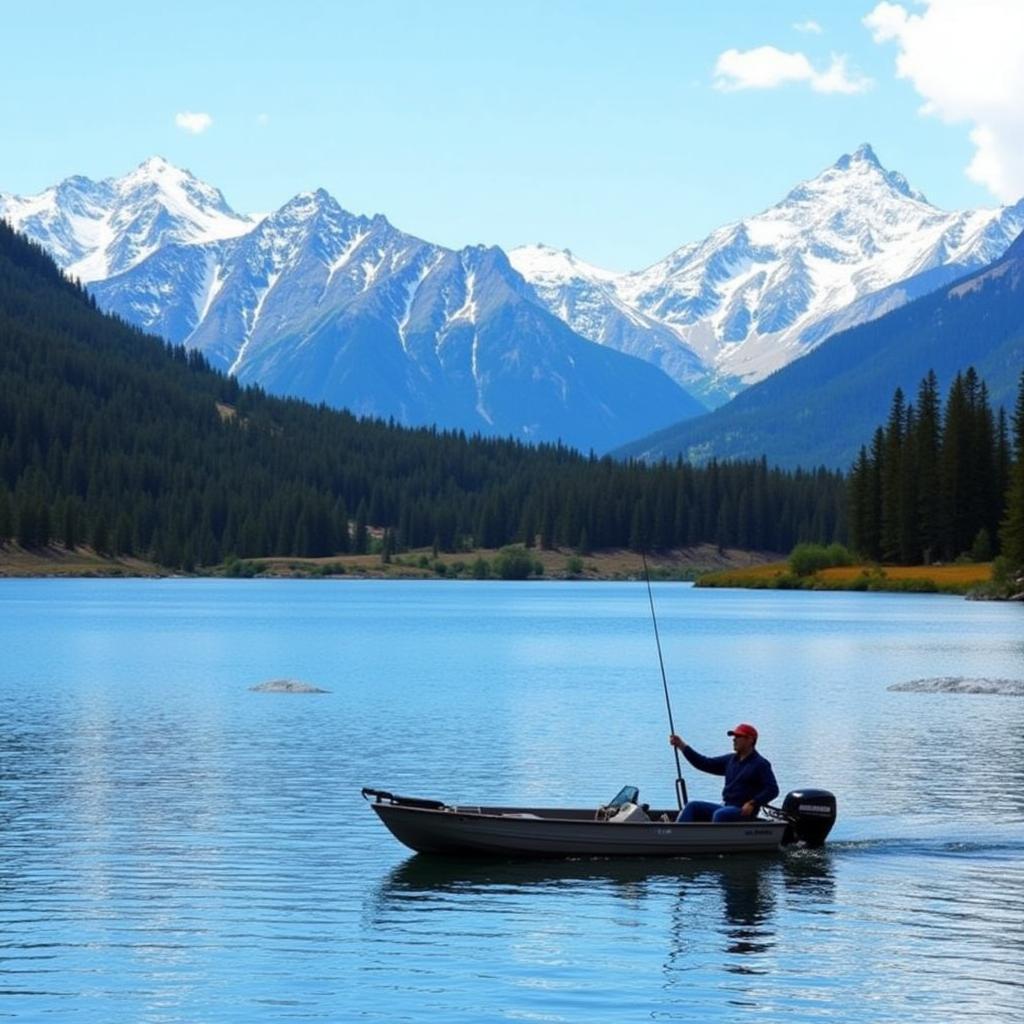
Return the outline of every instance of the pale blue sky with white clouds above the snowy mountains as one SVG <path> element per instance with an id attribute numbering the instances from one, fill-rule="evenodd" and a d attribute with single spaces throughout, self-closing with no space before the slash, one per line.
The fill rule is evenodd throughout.
<path id="1" fill-rule="evenodd" d="M 245 212 L 323 186 L 432 242 L 545 242 L 636 269 L 864 141 L 944 208 L 1024 195 L 1022 10 L 9 5 L 0 191 L 159 154 Z"/>

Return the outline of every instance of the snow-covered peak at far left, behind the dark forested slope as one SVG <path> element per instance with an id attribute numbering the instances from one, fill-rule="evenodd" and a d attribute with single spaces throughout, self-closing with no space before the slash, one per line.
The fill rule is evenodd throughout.
<path id="1" fill-rule="evenodd" d="M 75 176 L 37 196 L 0 193 L 0 217 L 88 284 L 122 273 L 162 246 L 252 230 L 220 191 L 161 157 L 121 178 Z"/>

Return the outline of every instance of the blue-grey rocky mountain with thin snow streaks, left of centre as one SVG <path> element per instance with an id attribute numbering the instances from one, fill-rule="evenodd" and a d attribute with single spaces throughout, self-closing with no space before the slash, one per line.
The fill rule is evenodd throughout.
<path id="1" fill-rule="evenodd" d="M 245 383 L 410 425 L 605 451 L 703 411 L 574 334 L 500 249 L 431 245 L 324 190 L 239 238 L 164 245 L 91 291 Z"/>

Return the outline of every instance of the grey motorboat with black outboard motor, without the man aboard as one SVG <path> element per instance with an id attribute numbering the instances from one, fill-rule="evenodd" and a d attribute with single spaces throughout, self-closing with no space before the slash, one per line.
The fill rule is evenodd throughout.
<path id="1" fill-rule="evenodd" d="M 675 810 L 639 803 L 624 786 L 598 808 L 483 807 L 399 797 L 365 787 L 389 831 L 418 853 L 493 857 L 686 857 L 770 853 L 821 846 L 836 821 L 836 798 L 798 790 L 781 808 L 748 821 L 677 822 Z"/>

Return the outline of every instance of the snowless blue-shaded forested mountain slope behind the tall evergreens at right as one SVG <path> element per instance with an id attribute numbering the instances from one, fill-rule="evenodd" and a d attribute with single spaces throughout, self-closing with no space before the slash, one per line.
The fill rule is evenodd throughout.
<path id="1" fill-rule="evenodd" d="M 994 406 L 1012 408 L 1024 367 L 1024 233 L 988 266 L 849 328 L 727 406 L 625 445 L 623 457 L 743 459 L 848 469 L 929 371 L 945 388 L 974 366 Z"/>

